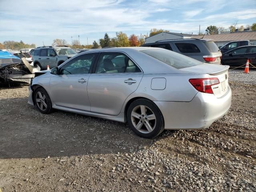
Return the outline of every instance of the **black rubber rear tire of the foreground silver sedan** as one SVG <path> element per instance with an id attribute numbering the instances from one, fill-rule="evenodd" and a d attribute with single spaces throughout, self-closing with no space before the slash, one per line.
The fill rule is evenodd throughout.
<path id="1" fill-rule="evenodd" d="M 140 128 L 140 131 L 137 130 L 134 126 L 134 124 L 137 124 L 137 118 L 133 118 L 134 120 L 132 120 L 132 112 L 134 112 L 134 109 L 138 108 L 138 106 L 145 106 L 146 107 L 146 115 L 144 117 L 144 119 L 138 119 L 139 122 L 141 122 L 142 124 L 142 128 Z M 140 108 L 138 108 L 138 110 L 140 110 Z M 154 128 L 151 132 L 147 133 L 147 129 L 146 129 L 146 116 L 148 116 L 148 112 L 151 114 L 154 114 L 155 116 L 155 120 L 153 120 L 153 124 L 154 124 Z M 158 136 L 159 134 L 161 134 L 164 131 L 164 118 L 162 116 L 161 111 L 159 110 L 159 108 L 156 106 L 156 104 L 154 104 L 152 101 L 147 100 L 147 99 L 138 99 L 135 100 L 134 102 L 132 102 L 130 104 L 130 106 L 128 107 L 127 110 L 127 114 L 126 114 L 126 118 L 128 121 L 128 124 L 130 125 L 130 127 L 132 128 L 132 130 L 140 137 L 143 138 L 154 138 L 156 136 Z M 143 121 L 143 123 L 142 123 Z M 149 120 L 148 120 L 149 122 Z M 151 124 L 152 122 L 150 122 Z M 138 125 L 138 124 L 137 124 Z M 152 125 L 152 124 L 151 124 Z M 142 130 L 144 128 L 144 130 Z M 143 132 L 142 132 L 143 131 Z"/>

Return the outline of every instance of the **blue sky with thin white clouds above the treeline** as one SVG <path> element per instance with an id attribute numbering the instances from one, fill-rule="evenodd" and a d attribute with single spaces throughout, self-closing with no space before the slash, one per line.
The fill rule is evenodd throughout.
<path id="1" fill-rule="evenodd" d="M 92 44 L 122 31 L 149 34 L 151 28 L 198 34 L 209 25 L 228 28 L 256 22 L 256 0 L 0 0 L 0 42 L 51 45 L 55 38 Z"/>

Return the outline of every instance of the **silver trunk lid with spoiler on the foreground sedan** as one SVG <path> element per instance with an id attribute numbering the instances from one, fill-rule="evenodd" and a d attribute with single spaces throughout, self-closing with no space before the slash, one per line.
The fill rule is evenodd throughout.
<path id="1" fill-rule="evenodd" d="M 216 64 L 200 64 L 188 68 L 182 68 L 180 70 L 184 72 L 192 72 L 194 74 L 218 74 L 228 70 L 228 65 L 216 65 Z"/>

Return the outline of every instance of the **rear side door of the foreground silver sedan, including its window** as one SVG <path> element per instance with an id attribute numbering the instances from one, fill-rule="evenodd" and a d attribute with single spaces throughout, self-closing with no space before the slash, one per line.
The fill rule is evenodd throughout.
<path id="1" fill-rule="evenodd" d="M 116 116 L 140 84 L 142 70 L 122 52 L 102 52 L 88 81 L 91 111 Z"/>

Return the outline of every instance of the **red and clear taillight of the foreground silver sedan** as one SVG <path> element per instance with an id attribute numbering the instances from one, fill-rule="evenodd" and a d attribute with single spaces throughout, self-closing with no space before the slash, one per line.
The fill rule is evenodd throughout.
<path id="1" fill-rule="evenodd" d="M 200 78 L 200 79 L 190 79 L 189 82 L 192 86 L 203 93 L 210 93 L 213 94 L 212 86 L 219 84 L 220 81 L 218 78 Z"/>

